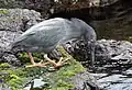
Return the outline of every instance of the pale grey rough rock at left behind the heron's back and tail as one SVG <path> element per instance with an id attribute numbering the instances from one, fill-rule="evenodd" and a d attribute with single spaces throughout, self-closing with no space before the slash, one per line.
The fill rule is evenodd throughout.
<path id="1" fill-rule="evenodd" d="M 0 63 L 8 61 L 20 65 L 15 56 L 7 54 L 10 44 L 31 25 L 41 20 L 41 14 L 28 9 L 0 9 Z"/>

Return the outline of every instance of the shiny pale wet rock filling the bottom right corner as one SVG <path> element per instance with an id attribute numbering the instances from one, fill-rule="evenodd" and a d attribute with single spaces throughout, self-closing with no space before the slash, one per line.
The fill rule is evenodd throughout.
<path id="1" fill-rule="evenodd" d="M 98 74 L 97 74 L 98 75 Z M 98 75 L 99 76 L 99 75 Z M 132 78 L 121 74 L 112 74 L 100 77 L 97 82 L 105 90 L 131 90 Z"/>

